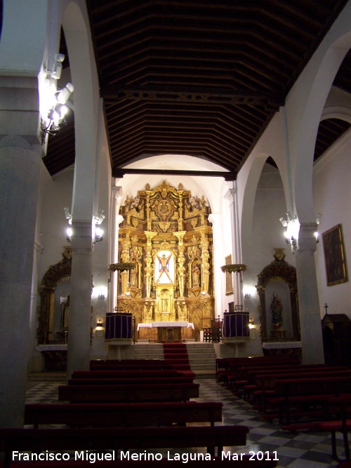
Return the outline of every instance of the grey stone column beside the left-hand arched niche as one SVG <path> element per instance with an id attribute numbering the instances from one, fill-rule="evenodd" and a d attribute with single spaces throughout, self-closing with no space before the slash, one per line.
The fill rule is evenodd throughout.
<path id="1" fill-rule="evenodd" d="M 67 378 L 74 370 L 88 370 L 91 347 L 92 228 L 72 222 L 72 279 L 67 342 Z"/>

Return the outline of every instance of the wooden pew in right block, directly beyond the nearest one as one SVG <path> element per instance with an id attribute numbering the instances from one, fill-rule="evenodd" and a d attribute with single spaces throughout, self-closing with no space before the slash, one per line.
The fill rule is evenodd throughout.
<path id="1" fill-rule="evenodd" d="M 307 406 L 323 406 L 326 398 L 351 393 L 351 377 L 322 377 L 277 380 L 274 396 L 267 402 L 279 409 L 279 421 L 290 423 L 291 410 L 295 416 L 314 415 Z"/>

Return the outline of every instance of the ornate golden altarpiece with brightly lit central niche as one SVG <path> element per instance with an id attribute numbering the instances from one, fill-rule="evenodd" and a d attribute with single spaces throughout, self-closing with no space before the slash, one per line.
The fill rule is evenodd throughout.
<path id="1" fill-rule="evenodd" d="M 137 326 L 193 323 L 181 338 L 199 340 L 213 317 L 213 239 L 204 196 L 192 196 L 182 184 L 147 184 L 134 199 L 126 196 L 120 214 L 119 262 L 134 267 L 119 273 L 118 309 L 131 312 Z M 157 341 L 157 328 L 140 328 L 139 337 Z"/>

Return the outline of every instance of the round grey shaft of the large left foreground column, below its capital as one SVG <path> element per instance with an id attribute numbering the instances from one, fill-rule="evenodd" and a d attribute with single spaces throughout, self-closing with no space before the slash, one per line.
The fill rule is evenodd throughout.
<path id="1" fill-rule="evenodd" d="M 0 141 L 0 427 L 21 427 L 41 146 Z"/>

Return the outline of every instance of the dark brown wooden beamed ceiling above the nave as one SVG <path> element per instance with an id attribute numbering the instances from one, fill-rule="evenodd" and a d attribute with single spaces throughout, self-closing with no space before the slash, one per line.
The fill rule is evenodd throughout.
<path id="1" fill-rule="evenodd" d="M 145 155 L 189 154 L 234 178 L 346 3 L 86 0 L 112 174 Z M 348 93 L 350 62 L 334 81 Z M 347 128 L 322 121 L 315 158 Z M 51 173 L 72 163 L 55 138 Z"/>

